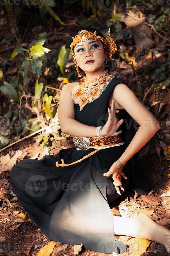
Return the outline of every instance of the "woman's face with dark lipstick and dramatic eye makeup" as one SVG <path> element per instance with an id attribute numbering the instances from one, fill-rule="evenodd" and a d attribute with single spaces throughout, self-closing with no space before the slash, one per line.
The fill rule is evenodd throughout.
<path id="1" fill-rule="evenodd" d="M 103 48 L 103 44 L 100 40 L 89 39 L 86 42 L 77 43 L 73 51 L 74 55 L 80 54 L 75 56 L 77 66 L 84 72 L 94 72 L 104 67 L 104 62 L 107 58 L 107 54 L 104 51 L 106 47 L 101 48 Z M 94 62 L 86 63 L 87 60 L 93 60 Z"/>

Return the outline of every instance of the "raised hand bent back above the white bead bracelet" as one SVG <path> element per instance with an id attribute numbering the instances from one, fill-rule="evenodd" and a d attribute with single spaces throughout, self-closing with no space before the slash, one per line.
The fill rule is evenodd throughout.
<path id="1" fill-rule="evenodd" d="M 117 118 L 115 116 L 115 113 L 119 112 L 119 110 L 116 110 L 115 101 L 112 100 L 112 106 L 111 108 L 108 108 L 108 119 L 106 124 L 102 127 L 100 130 L 100 135 L 103 136 L 111 136 L 115 131 L 118 129 L 118 127 L 123 123 L 124 119 L 120 119 L 117 122 Z"/>

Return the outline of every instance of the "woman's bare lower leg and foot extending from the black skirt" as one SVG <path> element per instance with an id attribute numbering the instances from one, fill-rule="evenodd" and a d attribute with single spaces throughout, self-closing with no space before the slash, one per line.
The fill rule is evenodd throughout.
<path id="1" fill-rule="evenodd" d="M 115 234 L 152 240 L 164 245 L 167 252 L 170 252 L 170 230 L 156 223 L 146 214 L 141 213 L 136 218 L 119 216 L 113 218 Z"/>

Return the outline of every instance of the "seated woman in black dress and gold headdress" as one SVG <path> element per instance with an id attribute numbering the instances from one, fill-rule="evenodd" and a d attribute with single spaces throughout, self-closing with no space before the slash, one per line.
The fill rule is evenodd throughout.
<path id="1" fill-rule="evenodd" d="M 127 187 L 140 195 L 151 190 L 136 169 L 135 153 L 159 130 L 158 121 L 105 65 L 117 50 L 109 31 L 105 39 L 96 29 L 85 28 L 72 38 L 81 80 L 63 86 L 58 117 L 62 132 L 74 136 L 76 146 L 18 162 L 10 174 L 12 188 L 50 240 L 83 243 L 102 253 L 129 251 L 114 240 L 119 234 L 156 241 L 169 252 L 167 228 L 145 214 L 113 216 L 109 207 Z M 133 118 L 140 124 L 136 134 Z"/>

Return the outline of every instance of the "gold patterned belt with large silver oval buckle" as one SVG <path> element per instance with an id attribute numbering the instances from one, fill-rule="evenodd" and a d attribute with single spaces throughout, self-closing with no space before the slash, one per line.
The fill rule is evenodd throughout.
<path id="1" fill-rule="evenodd" d="M 111 136 L 105 136 L 104 138 L 73 136 L 73 142 L 75 146 L 80 150 L 84 150 L 86 148 L 93 148 L 93 147 L 100 148 L 100 147 L 112 146 L 112 145 L 123 142 L 121 137 L 119 136 L 119 133 L 121 133 L 121 131 L 115 132 Z"/>

